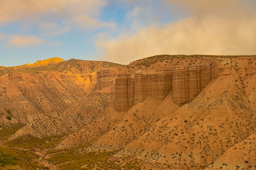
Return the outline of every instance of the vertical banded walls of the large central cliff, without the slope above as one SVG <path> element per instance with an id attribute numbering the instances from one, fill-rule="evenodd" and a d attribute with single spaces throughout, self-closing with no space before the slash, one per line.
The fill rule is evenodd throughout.
<path id="1" fill-rule="evenodd" d="M 191 102 L 216 77 L 215 63 L 173 70 L 139 69 L 133 74 L 120 74 L 116 79 L 115 109 L 124 111 L 147 96 L 164 99 L 172 92 L 178 105 Z"/>

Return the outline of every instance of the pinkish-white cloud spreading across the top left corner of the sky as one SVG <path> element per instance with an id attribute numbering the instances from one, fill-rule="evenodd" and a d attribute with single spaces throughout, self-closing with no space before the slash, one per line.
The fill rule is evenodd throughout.
<path id="1" fill-rule="evenodd" d="M 37 24 L 47 35 L 65 33 L 72 28 L 115 28 L 115 23 L 98 19 L 107 3 L 108 0 L 1 0 L 0 25 L 13 21 Z"/>

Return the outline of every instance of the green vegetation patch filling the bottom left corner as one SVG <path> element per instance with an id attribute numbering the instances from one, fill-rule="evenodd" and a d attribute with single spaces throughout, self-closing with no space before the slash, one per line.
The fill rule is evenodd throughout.
<path id="1" fill-rule="evenodd" d="M 0 146 L 0 170 L 7 169 L 13 165 L 25 170 L 47 169 L 35 161 L 37 158 L 38 157 L 29 150 L 17 150 Z"/>

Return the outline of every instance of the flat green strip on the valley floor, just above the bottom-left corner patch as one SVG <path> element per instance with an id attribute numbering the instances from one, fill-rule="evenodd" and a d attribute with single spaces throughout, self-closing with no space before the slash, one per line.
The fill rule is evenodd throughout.
<path id="1" fill-rule="evenodd" d="M 56 146 L 56 144 L 60 141 L 61 137 L 64 135 L 56 135 L 56 136 L 48 136 L 43 138 L 34 137 L 32 135 L 26 135 L 22 137 L 18 137 L 16 139 L 12 139 L 4 143 L 5 146 L 15 146 L 20 148 L 33 148 L 38 147 L 40 149 L 43 148 L 51 148 Z"/>

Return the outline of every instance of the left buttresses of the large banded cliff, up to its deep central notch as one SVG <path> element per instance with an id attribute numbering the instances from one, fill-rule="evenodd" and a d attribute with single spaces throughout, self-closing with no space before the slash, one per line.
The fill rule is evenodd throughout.
<path id="1" fill-rule="evenodd" d="M 127 110 L 143 102 L 147 96 L 164 99 L 172 89 L 172 71 L 137 70 L 132 75 L 118 75 L 115 88 L 115 109 Z"/>

